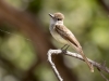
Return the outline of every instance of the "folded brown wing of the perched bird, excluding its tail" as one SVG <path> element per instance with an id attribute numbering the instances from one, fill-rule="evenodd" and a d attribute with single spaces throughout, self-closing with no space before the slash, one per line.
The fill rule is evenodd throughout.
<path id="1" fill-rule="evenodd" d="M 73 43 L 76 48 L 81 48 L 78 41 L 74 37 L 74 35 L 64 26 L 64 25 L 56 25 L 55 30 L 68 42 Z"/>

